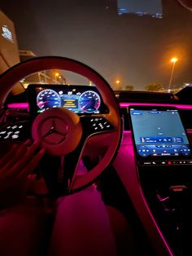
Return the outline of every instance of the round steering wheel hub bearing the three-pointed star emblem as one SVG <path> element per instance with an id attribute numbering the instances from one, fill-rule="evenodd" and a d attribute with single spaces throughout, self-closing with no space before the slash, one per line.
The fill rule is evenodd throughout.
<path id="1" fill-rule="evenodd" d="M 66 108 L 50 108 L 33 121 L 33 139 L 41 140 L 46 151 L 54 156 L 72 152 L 81 140 L 80 118 Z"/>

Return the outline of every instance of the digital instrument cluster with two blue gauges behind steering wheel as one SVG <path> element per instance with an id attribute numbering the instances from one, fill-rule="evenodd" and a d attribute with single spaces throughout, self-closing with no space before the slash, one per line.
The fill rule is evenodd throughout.
<path id="1" fill-rule="evenodd" d="M 67 108 L 74 113 L 102 113 L 104 104 L 95 86 L 30 85 L 29 108 L 42 113 L 49 108 Z"/>

